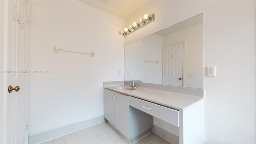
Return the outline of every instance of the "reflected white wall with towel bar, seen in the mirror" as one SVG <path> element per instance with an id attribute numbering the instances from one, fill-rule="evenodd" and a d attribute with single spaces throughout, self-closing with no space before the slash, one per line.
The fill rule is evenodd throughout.
<path id="1" fill-rule="evenodd" d="M 124 80 L 142 80 L 146 83 L 162 84 L 162 45 L 163 37 L 158 34 L 127 44 L 124 50 L 126 62 Z M 159 63 L 145 63 L 144 59 Z"/>

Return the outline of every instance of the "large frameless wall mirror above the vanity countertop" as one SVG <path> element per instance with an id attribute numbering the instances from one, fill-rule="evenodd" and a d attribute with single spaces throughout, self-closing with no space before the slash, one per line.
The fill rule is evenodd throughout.
<path id="1" fill-rule="evenodd" d="M 203 88 L 203 14 L 124 46 L 124 80 Z"/>

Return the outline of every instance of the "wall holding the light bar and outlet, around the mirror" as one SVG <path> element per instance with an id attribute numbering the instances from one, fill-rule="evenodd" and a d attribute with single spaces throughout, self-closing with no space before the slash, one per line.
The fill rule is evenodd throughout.
<path id="1" fill-rule="evenodd" d="M 125 44 L 204 13 L 205 143 L 256 143 L 256 1 L 149 1 L 125 26 L 155 13 L 154 22 L 125 37 Z"/>

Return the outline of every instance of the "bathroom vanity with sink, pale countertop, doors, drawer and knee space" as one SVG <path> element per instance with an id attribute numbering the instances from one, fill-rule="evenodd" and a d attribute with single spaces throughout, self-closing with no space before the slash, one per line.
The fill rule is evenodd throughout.
<path id="1" fill-rule="evenodd" d="M 204 142 L 204 90 L 136 84 L 104 86 L 104 117 L 130 142 L 151 131 L 153 116 L 178 127 L 178 143 Z"/>

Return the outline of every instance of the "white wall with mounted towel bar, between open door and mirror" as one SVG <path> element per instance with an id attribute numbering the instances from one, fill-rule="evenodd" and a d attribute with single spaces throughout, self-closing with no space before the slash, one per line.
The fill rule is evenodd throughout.
<path id="1" fill-rule="evenodd" d="M 124 76 L 124 20 L 76 0 L 30 3 L 30 70 L 52 73 L 29 75 L 29 135 L 102 116 L 103 81 Z"/>

